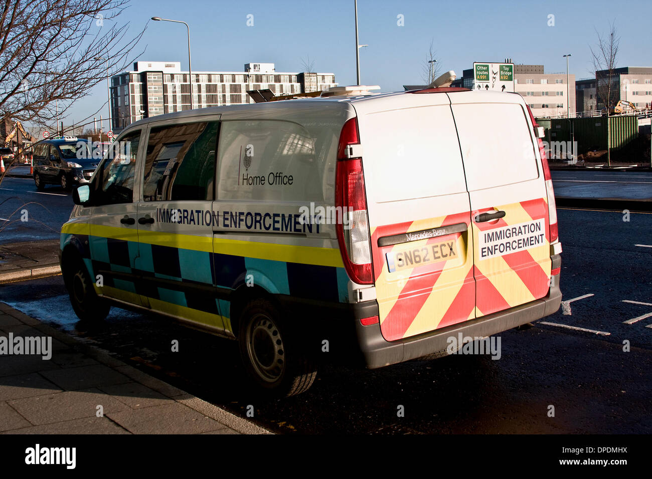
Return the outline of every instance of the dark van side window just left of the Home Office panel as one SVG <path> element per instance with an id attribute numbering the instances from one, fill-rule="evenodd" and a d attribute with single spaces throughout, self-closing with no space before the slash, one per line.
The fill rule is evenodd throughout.
<path id="1" fill-rule="evenodd" d="M 147 141 L 143 200 L 213 199 L 219 122 L 152 128 Z"/>

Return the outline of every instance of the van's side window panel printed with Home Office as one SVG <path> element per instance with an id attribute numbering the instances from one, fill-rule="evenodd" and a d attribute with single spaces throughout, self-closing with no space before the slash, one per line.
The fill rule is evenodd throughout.
<path id="1" fill-rule="evenodd" d="M 323 166 L 314 143 L 289 121 L 223 121 L 217 199 L 319 201 Z"/>

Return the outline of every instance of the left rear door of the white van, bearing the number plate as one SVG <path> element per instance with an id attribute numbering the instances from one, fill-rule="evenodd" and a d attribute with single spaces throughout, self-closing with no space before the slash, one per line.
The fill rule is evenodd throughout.
<path id="1" fill-rule="evenodd" d="M 475 317 L 469 196 L 448 97 L 402 94 L 353 106 L 383 337 Z"/>

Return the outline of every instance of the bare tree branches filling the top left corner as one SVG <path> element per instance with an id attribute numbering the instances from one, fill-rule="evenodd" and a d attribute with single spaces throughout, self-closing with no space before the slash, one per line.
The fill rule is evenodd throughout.
<path id="1" fill-rule="evenodd" d="M 108 72 L 124 70 L 138 57 L 132 50 L 146 26 L 127 36 L 129 23 L 117 22 L 129 1 L 1 2 L 0 122 L 51 125 Z"/>

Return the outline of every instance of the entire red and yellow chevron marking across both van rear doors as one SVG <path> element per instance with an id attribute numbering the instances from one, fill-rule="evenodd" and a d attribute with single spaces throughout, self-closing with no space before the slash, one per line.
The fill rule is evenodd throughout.
<path id="1" fill-rule="evenodd" d="M 383 225 L 372 231 L 376 296 L 381 332 L 385 340 L 400 340 L 507 310 L 548 293 L 551 261 L 546 201 L 534 199 L 496 208 L 507 213 L 505 218 L 497 222 L 471 223 L 471 217 L 475 214 L 492 210 L 487 208 Z M 479 260 L 477 252 L 474 253 L 473 245 L 479 244 L 479 235 L 485 231 L 541 218 L 545 220 L 545 240 L 541 245 L 482 260 Z M 468 227 L 463 233 L 392 246 L 377 246 L 381 237 L 462 222 Z M 385 257 L 388 252 L 422 248 L 446 241 L 454 241 L 456 257 L 389 272 Z"/>

